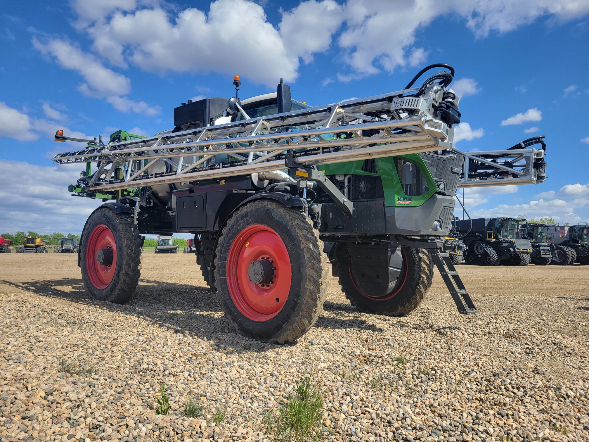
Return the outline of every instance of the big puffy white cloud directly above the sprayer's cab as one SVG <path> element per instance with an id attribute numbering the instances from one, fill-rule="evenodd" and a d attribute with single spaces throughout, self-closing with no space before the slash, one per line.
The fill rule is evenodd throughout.
<path id="1" fill-rule="evenodd" d="M 224 72 L 275 85 L 280 77 L 294 80 L 299 67 L 262 6 L 245 0 L 217 0 L 208 14 L 187 8 L 172 17 L 158 6 L 115 12 L 88 32 L 111 63 L 145 71 Z"/>

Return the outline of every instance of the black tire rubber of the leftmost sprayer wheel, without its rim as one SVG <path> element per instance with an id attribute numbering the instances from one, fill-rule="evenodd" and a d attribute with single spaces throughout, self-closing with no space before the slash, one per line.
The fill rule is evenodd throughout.
<path id="1" fill-rule="evenodd" d="M 114 225 L 112 222 L 114 222 Z M 87 230 L 87 227 L 93 229 L 98 224 L 107 225 L 111 229 L 115 242 L 117 242 L 117 266 L 119 263 L 121 265 L 120 270 L 115 272 L 111 283 L 103 290 L 98 290 L 92 286 L 85 270 L 87 243 L 84 240 L 91 233 L 91 230 Z M 115 227 L 114 230 L 113 227 Z M 127 302 L 135 292 L 141 276 L 141 238 L 139 229 L 134 223 L 133 215 L 114 213 L 107 207 L 97 209 L 86 221 L 80 246 L 82 279 L 84 279 L 84 286 L 92 298 L 98 301 L 114 302 L 115 304 Z"/>

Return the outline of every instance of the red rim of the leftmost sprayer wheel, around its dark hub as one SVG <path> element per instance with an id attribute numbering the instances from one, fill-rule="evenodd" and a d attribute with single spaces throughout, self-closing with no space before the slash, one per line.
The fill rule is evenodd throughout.
<path id="1" fill-rule="evenodd" d="M 112 263 L 110 265 L 99 264 L 96 254 L 100 249 L 112 250 Z M 105 289 L 111 283 L 117 268 L 117 244 L 111 230 L 104 224 L 94 227 L 86 246 L 86 270 L 92 285 L 99 289 Z"/>

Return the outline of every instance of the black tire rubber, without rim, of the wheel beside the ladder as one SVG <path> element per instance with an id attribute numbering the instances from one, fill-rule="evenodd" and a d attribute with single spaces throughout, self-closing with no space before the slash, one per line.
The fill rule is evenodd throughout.
<path id="1" fill-rule="evenodd" d="M 384 301 L 373 301 L 366 298 L 362 293 L 358 292 L 354 285 L 352 278 L 350 278 L 349 266 L 338 263 L 337 272 L 339 276 L 339 285 L 346 295 L 346 299 L 350 301 L 356 309 L 362 312 L 371 314 L 380 314 L 388 316 L 405 316 L 415 310 L 432 285 L 434 279 L 434 260 L 429 252 L 425 249 L 403 248 L 405 250 L 406 259 L 415 260 L 416 266 L 419 268 L 419 273 L 416 280 L 409 281 L 411 275 L 407 275 L 408 280 L 405 284 L 412 284 L 415 286 L 411 297 L 406 299 L 404 303 L 399 303 L 399 298 L 393 298 Z M 411 289 L 410 286 L 408 286 Z M 393 302 L 387 302 L 393 301 Z"/>

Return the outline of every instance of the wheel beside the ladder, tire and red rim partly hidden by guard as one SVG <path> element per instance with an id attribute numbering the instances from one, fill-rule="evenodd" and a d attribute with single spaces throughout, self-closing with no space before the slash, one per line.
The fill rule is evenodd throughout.
<path id="1" fill-rule="evenodd" d="M 359 311 L 404 316 L 418 307 L 432 285 L 434 260 L 427 250 L 398 246 L 391 251 L 393 253 L 389 258 L 389 276 L 386 281 L 385 275 L 376 273 L 384 273 L 386 268 L 371 268 L 368 260 L 366 266 L 356 266 L 352 263 L 349 251 L 346 255 L 345 249 L 338 250 L 339 283 L 350 304 Z M 373 275 L 369 274 L 371 271 Z"/>

